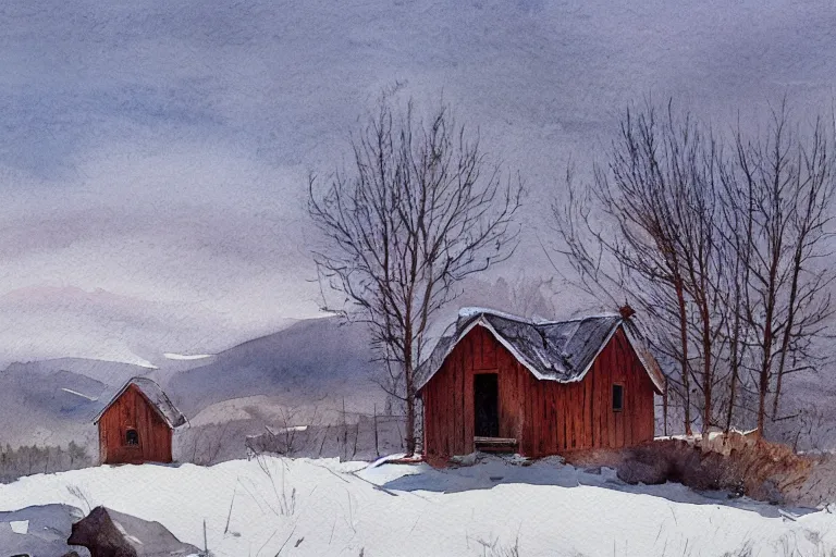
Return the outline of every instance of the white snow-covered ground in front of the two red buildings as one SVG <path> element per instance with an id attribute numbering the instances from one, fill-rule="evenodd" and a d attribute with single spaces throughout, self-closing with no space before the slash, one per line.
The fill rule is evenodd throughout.
<path id="1" fill-rule="evenodd" d="M 836 515 L 826 510 L 728 502 L 675 484 L 628 486 L 607 469 L 587 473 L 556 460 L 491 458 L 438 471 L 269 457 L 100 467 L 0 485 L 0 510 L 47 503 L 106 505 L 200 547 L 206 520 L 218 557 L 490 556 L 517 544 L 522 557 L 722 556 L 747 541 L 754 556 L 836 547 Z"/>

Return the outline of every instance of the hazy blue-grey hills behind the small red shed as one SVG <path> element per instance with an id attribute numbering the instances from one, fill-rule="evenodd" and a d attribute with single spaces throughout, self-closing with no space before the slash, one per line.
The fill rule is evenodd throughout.
<path id="1" fill-rule="evenodd" d="M 160 382 L 188 418 L 220 404 L 212 421 L 228 419 L 222 404 L 238 399 L 325 411 L 344 397 L 360 412 L 383 408 L 385 399 L 372 382 L 381 370 L 370 362 L 365 327 L 335 318 L 299 321 L 205 358 L 158 361 L 159 369 L 83 358 L 12 363 L 0 372 L 0 444 L 94 443 L 93 418 L 136 375 Z"/>

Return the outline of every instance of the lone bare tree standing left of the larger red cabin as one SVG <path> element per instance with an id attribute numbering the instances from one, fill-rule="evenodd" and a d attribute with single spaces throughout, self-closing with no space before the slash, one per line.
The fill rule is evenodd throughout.
<path id="1" fill-rule="evenodd" d="M 383 97 L 352 146 L 351 171 L 310 177 L 308 211 L 324 238 L 314 257 L 320 281 L 345 295 L 324 309 L 370 327 L 413 454 L 415 370 L 432 315 L 462 280 L 514 252 L 522 185 L 503 178 L 445 106 L 425 122 L 411 101 L 402 111 Z"/>

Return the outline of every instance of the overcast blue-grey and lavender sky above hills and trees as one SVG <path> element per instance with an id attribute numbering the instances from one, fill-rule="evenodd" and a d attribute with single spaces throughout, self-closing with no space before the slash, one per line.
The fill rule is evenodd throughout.
<path id="1" fill-rule="evenodd" d="M 5 0 L 1 359 L 210 352 L 316 314 L 305 176 L 382 87 L 443 90 L 536 224 L 631 100 L 828 108 L 835 29 L 800 1 Z M 534 232 L 495 274 L 546 272 Z"/>

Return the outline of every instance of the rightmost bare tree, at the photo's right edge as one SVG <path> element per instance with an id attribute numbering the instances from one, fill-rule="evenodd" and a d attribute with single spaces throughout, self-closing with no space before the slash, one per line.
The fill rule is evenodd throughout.
<path id="1" fill-rule="evenodd" d="M 833 314 L 834 274 L 822 264 L 832 255 L 826 249 L 836 186 L 832 134 L 822 119 L 807 132 L 790 124 L 784 102 L 772 112 L 764 137 L 749 139 L 739 129 L 735 135 L 726 202 L 727 212 L 747 222 L 746 237 L 736 236 L 734 246 L 748 275 L 741 302 L 761 434 L 766 417 L 779 418 L 785 375 L 822 361 L 810 348 Z"/>

